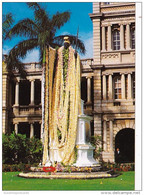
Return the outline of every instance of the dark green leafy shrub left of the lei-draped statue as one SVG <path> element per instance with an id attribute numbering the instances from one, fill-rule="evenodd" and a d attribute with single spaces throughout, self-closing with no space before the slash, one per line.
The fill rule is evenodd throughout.
<path id="1" fill-rule="evenodd" d="M 26 138 L 26 135 L 3 134 L 2 137 L 3 164 L 33 164 L 42 159 L 42 143 L 36 138 Z"/>

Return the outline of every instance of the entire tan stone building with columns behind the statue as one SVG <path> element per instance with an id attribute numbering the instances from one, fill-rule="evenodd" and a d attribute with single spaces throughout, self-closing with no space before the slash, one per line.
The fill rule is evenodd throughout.
<path id="1" fill-rule="evenodd" d="M 81 95 L 93 116 L 92 135 L 102 137 L 102 158 L 117 148 L 134 161 L 135 3 L 93 3 L 93 58 L 82 59 Z M 25 64 L 27 79 L 8 73 L 3 62 L 3 133 L 42 138 L 39 63 Z"/>

